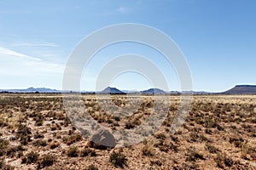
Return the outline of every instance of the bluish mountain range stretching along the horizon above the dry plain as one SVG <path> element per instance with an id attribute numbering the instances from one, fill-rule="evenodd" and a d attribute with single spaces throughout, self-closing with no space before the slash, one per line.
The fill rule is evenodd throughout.
<path id="1" fill-rule="evenodd" d="M 0 93 L 62 93 L 61 90 L 51 89 L 51 88 L 26 88 L 26 89 L 5 89 L 1 90 Z M 65 92 L 72 93 L 72 92 Z M 178 91 L 166 92 L 160 88 L 149 88 L 143 91 L 130 91 L 130 90 L 119 90 L 118 88 L 105 88 L 100 92 L 88 92 L 82 91 L 84 94 L 181 94 Z M 230 90 L 227 90 L 223 93 L 211 93 L 211 92 L 195 92 L 195 91 L 185 91 L 183 94 L 256 94 L 256 85 L 237 85 Z"/>

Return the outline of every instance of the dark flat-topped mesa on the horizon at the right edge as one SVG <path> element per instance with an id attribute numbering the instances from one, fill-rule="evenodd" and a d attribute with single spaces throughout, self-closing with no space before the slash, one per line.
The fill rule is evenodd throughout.
<path id="1" fill-rule="evenodd" d="M 236 85 L 234 88 L 224 92 L 224 94 L 256 94 L 255 85 Z"/>

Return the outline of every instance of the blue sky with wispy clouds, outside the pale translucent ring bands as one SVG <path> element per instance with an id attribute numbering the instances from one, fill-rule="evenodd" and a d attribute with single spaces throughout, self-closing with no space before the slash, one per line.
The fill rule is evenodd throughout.
<path id="1" fill-rule="evenodd" d="M 255 8 L 254 0 L 0 0 L 0 89 L 61 89 L 67 60 L 79 42 L 122 23 L 152 26 L 171 37 L 188 62 L 195 91 L 256 84 Z M 95 90 L 102 67 L 121 54 L 145 56 L 163 72 L 169 90 L 181 89 L 164 56 L 134 42 L 95 54 L 84 68 L 81 89 Z M 113 77 L 109 85 L 158 88 L 136 72 Z"/>

